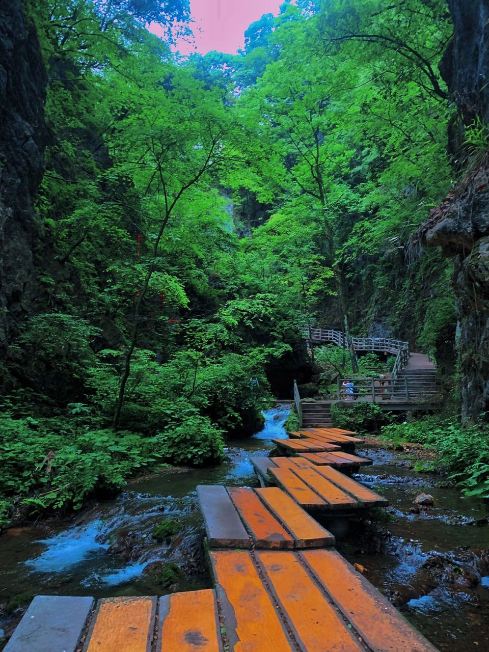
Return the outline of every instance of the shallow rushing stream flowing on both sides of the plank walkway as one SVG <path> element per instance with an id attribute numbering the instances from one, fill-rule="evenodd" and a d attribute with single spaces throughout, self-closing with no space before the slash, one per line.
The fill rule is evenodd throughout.
<path id="1" fill-rule="evenodd" d="M 269 409 L 261 432 L 228 439 L 227 461 L 218 467 L 164 469 L 76 516 L 8 530 L 0 537 L 0 628 L 8 634 L 22 614 L 12 598 L 164 595 L 211 586 L 195 488 L 258 486 L 250 458 L 267 455 L 271 440 L 286 436 L 288 412 L 289 406 Z M 372 520 L 352 521 L 339 552 L 363 566 L 366 578 L 440 650 L 488 650 L 486 503 L 462 496 L 441 477 L 415 473 L 404 452 L 373 444 L 358 450 L 374 465 L 361 467 L 356 479 L 386 496 L 390 507 L 374 511 Z M 432 507 L 413 505 L 422 492 L 433 496 Z M 158 542 L 153 528 L 167 518 L 177 520 L 181 532 Z M 160 573 L 168 562 L 181 573 L 164 587 Z"/>

